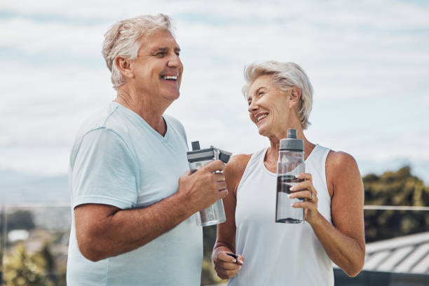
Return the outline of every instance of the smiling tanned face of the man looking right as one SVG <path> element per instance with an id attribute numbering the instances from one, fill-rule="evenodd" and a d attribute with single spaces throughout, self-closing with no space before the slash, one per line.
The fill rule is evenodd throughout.
<path id="1" fill-rule="evenodd" d="M 151 100 L 176 100 L 183 72 L 179 45 L 165 30 L 144 36 L 140 42 L 137 59 L 132 62 L 136 89 Z"/>

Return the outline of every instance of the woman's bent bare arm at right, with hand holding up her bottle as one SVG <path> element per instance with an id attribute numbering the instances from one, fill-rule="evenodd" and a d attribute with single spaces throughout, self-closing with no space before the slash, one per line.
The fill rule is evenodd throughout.
<path id="1" fill-rule="evenodd" d="M 331 151 L 326 162 L 326 177 L 329 193 L 332 195 L 332 224 L 317 210 L 317 190 L 311 182 L 311 175 L 303 177 L 306 182 L 296 189 L 308 189 L 315 193 L 314 200 L 308 200 L 311 193 L 301 191 L 307 198 L 294 207 L 304 207 L 306 221 L 311 224 L 329 258 L 347 275 L 357 275 L 365 261 L 365 231 L 363 220 L 364 188 L 355 159 L 343 152 Z M 294 194 L 299 196 L 299 193 Z M 303 196 L 305 193 L 305 196 Z M 292 196 L 292 197 L 294 197 Z"/>

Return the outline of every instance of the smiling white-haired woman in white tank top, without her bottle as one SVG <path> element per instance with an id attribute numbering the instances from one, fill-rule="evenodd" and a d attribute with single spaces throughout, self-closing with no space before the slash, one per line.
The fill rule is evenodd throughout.
<path id="1" fill-rule="evenodd" d="M 349 276 L 365 258 L 363 184 L 352 156 L 309 142 L 304 135 L 313 101 L 306 73 L 292 62 L 245 69 L 243 93 L 252 122 L 270 146 L 231 158 L 224 174 L 226 223 L 217 228 L 214 268 L 229 285 L 334 285 L 332 262 Z M 290 198 L 304 208 L 304 224 L 275 223 L 280 139 L 297 129 L 306 173 Z M 236 257 L 229 254 L 236 253 Z"/>

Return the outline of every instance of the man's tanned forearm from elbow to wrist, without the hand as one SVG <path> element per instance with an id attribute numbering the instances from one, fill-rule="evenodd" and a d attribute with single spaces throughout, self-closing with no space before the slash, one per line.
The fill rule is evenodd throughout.
<path id="1" fill-rule="evenodd" d="M 149 207 L 118 210 L 82 232 L 86 238 L 79 247 L 93 261 L 123 254 L 161 236 L 193 213 L 180 193 Z"/>

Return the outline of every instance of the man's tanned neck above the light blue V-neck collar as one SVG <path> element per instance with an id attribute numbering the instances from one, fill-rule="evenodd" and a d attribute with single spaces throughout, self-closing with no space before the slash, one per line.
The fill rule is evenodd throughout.
<path id="1" fill-rule="evenodd" d="M 125 87 L 118 88 L 114 102 L 118 102 L 123 107 L 134 111 L 162 136 L 167 132 L 167 125 L 165 125 L 163 114 L 170 104 L 165 106 L 165 104 L 161 104 L 160 102 L 154 102 L 154 99 L 148 95 L 137 94 Z"/>

